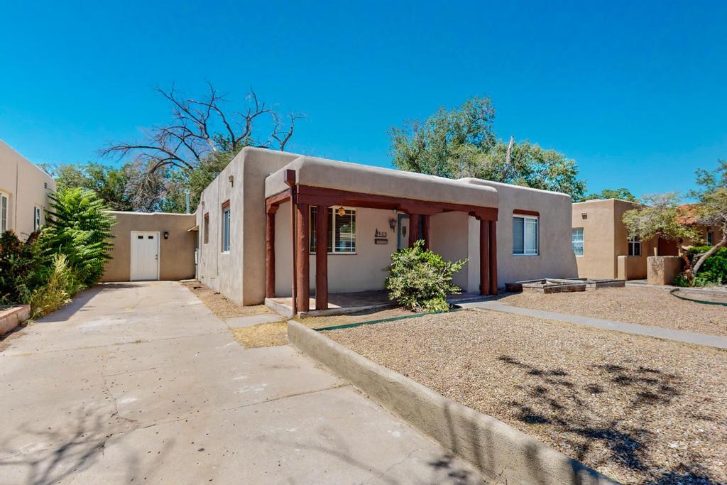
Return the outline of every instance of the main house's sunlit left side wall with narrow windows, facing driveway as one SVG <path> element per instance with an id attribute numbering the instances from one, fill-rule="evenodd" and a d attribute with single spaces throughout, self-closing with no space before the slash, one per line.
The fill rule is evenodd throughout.
<path id="1" fill-rule="evenodd" d="M 254 305 L 265 299 L 265 177 L 298 156 L 243 148 L 201 194 L 196 211 L 200 237 L 197 277 L 237 303 Z M 228 200 L 230 252 L 223 253 L 222 203 Z M 205 214 L 209 214 L 207 244 Z"/>

